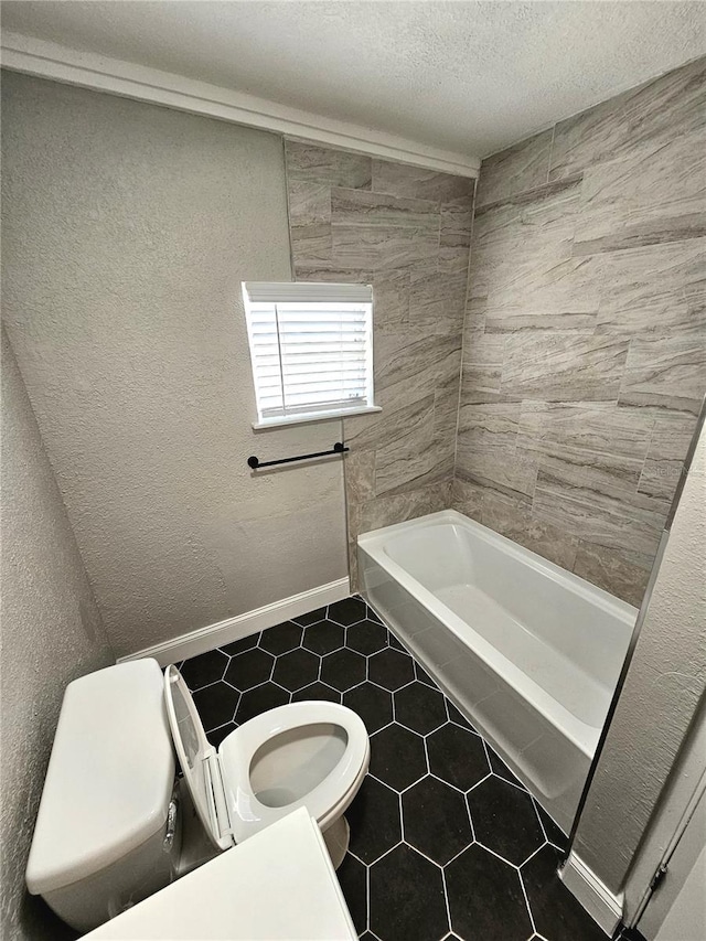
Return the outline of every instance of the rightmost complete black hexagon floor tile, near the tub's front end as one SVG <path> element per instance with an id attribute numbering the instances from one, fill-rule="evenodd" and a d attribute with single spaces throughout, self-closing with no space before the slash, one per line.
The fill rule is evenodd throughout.
<path id="1" fill-rule="evenodd" d="M 468 794 L 475 840 L 515 866 L 545 842 L 532 798 L 491 774 Z"/>

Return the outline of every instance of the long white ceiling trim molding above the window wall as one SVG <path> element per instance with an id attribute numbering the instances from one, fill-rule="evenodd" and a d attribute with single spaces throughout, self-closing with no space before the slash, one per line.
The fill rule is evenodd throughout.
<path id="1" fill-rule="evenodd" d="M 132 62 L 2 32 L 3 68 L 460 177 L 480 160 Z"/>

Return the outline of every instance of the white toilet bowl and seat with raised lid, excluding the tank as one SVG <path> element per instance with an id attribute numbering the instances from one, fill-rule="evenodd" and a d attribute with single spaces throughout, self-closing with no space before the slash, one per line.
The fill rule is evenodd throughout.
<path id="1" fill-rule="evenodd" d="M 164 671 L 164 698 L 184 780 L 216 848 L 227 849 L 300 806 L 307 808 L 324 831 L 343 814 L 367 771 L 367 730 L 360 716 L 345 706 L 323 701 L 278 706 L 232 731 L 216 751 L 206 738 L 191 693 L 173 665 Z M 313 747 L 307 729 L 314 739 Z M 297 741 L 297 730 L 302 731 L 304 749 L 310 746 L 312 761 L 307 770 L 319 762 L 323 773 L 317 781 L 314 770 L 313 787 L 295 800 L 274 805 L 264 792 L 255 793 L 254 760 L 268 745 L 275 750 L 278 742 L 284 742 L 286 749 L 288 733 L 292 734 L 289 738 L 297 753 L 302 744 Z M 277 755 L 270 760 L 270 779 L 277 777 Z"/>

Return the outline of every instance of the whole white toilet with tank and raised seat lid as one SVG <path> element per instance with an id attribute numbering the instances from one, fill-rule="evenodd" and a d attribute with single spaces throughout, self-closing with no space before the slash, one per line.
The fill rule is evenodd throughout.
<path id="1" fill-rule="evenodd" d="M 162 675 L 138 660 L 88 674 L 64 694 L 28 888 L 88 931 L 301 806 L 338 866 L 343 813 L 368 761 L 365 725 L 344 706 L 270 709 L 216 750 L 174 666 Z"/>

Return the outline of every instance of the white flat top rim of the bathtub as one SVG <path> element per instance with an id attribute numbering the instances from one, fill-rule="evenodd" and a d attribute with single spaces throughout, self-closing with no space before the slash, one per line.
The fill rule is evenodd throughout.
<path id="1" fill-rule="evenodd" d="M 622 621 L 625 627 L 625 653 L 628 652 L 628 643 L 634 624 L 634 619 L 638 616 L 638 610 L 627 601 L 614 598 L 598 586 L 592 586 L 590 582 L 573 573 L 566 571 L 554 563 L 542 558 L 531 549 L 525 549 L 524 546 L 518 546 L 505 536 L 501 536 L 488 526 L 483 526 L 475 520 L 471 520 L 459 513 L 457 510 L 441 510 L 437 513 L 429 513 L 425 516 L 418 516 L 414 520 L 408 520 L 404 523 L 395 523 L 392 526 L 384 526 L 378 530 L 373 530 L 368 533 L 363 533 L 357 537 L 359 549 L 366 553 L 373 562 L 387 571 L 409 595 L 416 598 L 434 617 L 436 617 L 456 638 L 466 643 L 464 633 L 471 631 L 473 635 L 472 652 L 500 677 L 509 683 L 520 695 L 522 695 L 547 721 L 566 736 L 569 741 L 578 748 L 589 760 L 596 752 L 598 740 L 605 725 L 605 719 L 599 726 L 589 725 L 582 719 L 575 716 L 566 706 L 558 699 L 547 693 L 536 681 L 528 676 L 521 667 L 509 660 L 503 653 L 486 641 L 472 624 L 463 621 L 454 613 L 447 605 L 443 603 L 428 588 L 425 588 L 420 581 L 409 575 L 398 563 L 394 562 L 385 552 L 385 543 L 388 538 L 397 533 L 413 528 L 425 528 L 442 523 L 451 523 L 464 526 L 471 531 L 475 531 L 478 535 L 486 542 L 496 543 L 503 552 L 510 550 L 513 556 L 521 562 L 528 563 L 533 568 L 538 569 L 542 575 L 545 575 L 554 581 L 564 582 L 569 589 L 576 589 L 577 594 L 581 595 L 591 603 L 598 602 L 597 607 L 609 612 Z M 383 535 L 384 534 L 384 535 Z M 364 589 L 367 594 L 367 590 Z M 632 616 L 634 612 L 634 616 Z M 630 618 L 632 617 L 632 620 Z M 468 644 L 467 644 L 468 645 Z M 441 667 L 442 669 L 442 667 Z M 606 714 L 610 706 L 612 691 L 607 688 L 606 696 Z"/>

